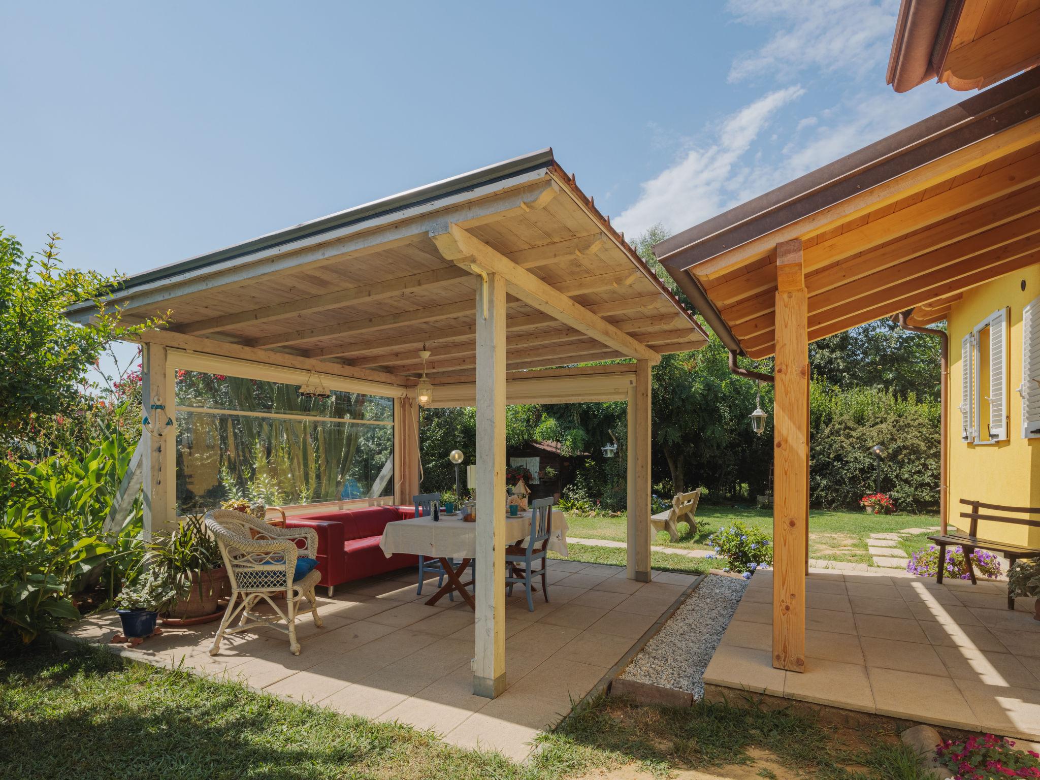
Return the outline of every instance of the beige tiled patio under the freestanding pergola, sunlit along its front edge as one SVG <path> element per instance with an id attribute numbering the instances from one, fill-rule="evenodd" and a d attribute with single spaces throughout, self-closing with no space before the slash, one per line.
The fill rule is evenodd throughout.
<path id="1" fill-rule="evenodd" d="M 414 570 L 350 583 L 335 598 L 319 595 L 326 625 L 309 616 L 297 622 L 300 655 L 267 627 L 226 639 L 210 656 L 213 624 L 168 629 L 133 654 L 523 759 L 535 736 L 555 726 L 695 579 L 654 572 L 654 581 L 642 583 L 621 567 L 555 560 L 549 575 L 551 601 L 535 594 L 534 613 L 522 590 L 506 598 L 508 687 L 495 700 L 472 694 L 473 613 L 447 599 L 427 606 L 433 590 L 416 595 Z M 103 614 L 69 633 L 106 644 L 118 630 L 119 619 Z"/>

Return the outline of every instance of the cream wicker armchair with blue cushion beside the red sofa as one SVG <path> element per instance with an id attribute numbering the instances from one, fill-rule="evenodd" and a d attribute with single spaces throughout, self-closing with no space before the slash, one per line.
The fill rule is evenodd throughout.
<path id="1" fill-rule="evenodd" d="M 207 512 L 205 522 L 220 547 L 231 579 L 231 600 L 209 654 L 216 655 L 220 651 L 220 640 L 226 633 L 270 625 L 289 634 L 289 650 L 300 655 L 296 617 L 311 613 L 314 625 L 319 628 L 322 625 L 314 593 L 321 574 L 315 569 L 303 579 L 293 581 L 296 557 L 303 552 L 296 543 L 306 543 L 307 556 L 314 557 L 318 546 L 317 534 L 313 528 L 276 528 L 263 520 L 232 510 Z M 285 594 L 285 612 L 271 598 L 282 593 Z M 300 602 L 304 598 L 310 606 L 301 609 Z M 275 615 L 253 612 L 260 599 L 271 605 Z M 239 615 L 238 626 L 229 628 Z M 285 621 L 284 627 L 278 625 L 281 621 Z"/>

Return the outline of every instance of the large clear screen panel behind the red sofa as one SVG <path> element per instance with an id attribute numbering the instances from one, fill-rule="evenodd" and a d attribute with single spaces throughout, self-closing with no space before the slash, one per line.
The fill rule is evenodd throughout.
<path id="1" fill-rule="evenodd" d="M 376 498 L 393 491 L 393 400 L 177 371 L 177 505 L 228 498 L 270 505 Z"/>

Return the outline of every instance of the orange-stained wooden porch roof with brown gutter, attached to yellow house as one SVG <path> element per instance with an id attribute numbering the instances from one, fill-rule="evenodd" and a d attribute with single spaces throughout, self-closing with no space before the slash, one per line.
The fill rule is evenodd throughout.
<path id="1" fill-rule="evenodd" d="M 775 349 L 777 244 L 801 239 L 809 340 L 1040 260 L 1040 72 L 1031 71 L 695 226 L 655 251 L 731 349 Z"/>

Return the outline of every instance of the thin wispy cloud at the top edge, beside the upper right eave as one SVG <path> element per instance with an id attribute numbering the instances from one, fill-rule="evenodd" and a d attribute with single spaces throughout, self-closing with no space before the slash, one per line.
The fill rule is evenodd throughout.
<path id="1" fill-rule="evenodd" d="M 745 52 L 729 72 L 730 81 L 769 75 L 781 80 L 812 69 L 878 76 L 888 56 L 898 0 L 730 0 L 737 21 L 776 27 L 758 51 Z"/>

